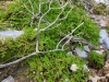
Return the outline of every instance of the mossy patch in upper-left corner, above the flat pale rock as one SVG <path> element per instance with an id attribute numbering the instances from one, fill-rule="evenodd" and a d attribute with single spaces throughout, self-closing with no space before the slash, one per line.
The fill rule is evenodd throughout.
<path id="1" fill-rule="evenodd" d="M 0 1 L 2 2 L 2 1 Z M 4 9 L 0 7 L 0 30 L 22 30 L 29 24 L 31 16 L 26 16 L 26 12 L 19 0 L 4 1 Z"/>

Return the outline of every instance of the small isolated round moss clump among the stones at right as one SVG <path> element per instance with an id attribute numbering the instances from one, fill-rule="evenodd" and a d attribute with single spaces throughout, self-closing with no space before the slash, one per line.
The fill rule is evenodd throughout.
<path id="1" fill-rule="evenodd" d="M 89 65 L 94 68 L 101 68 L 105 65 L 105 56 L 96 51 L 90 51 L 88 55 Z"/>

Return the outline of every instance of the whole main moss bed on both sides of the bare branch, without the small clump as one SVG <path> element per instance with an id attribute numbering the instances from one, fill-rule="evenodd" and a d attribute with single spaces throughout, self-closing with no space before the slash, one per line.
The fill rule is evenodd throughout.
<path id="1" fill-rule="evenodd" d="M 37 2 L 35 7 L 35 1 Z M 37 31 L 34 31 L 37 26 L 37 19 L 35 19 L 34 24 L 31 25 L 32 15 L 28 14 L 28 11 L 23 7 L 23 2 L 29 8 L 29 2 L 22 0 L 8 4 L 8 10 L 4 11 L 0 8 L 0 24 L 5 23 L 5 25 L 0 26 L 0 30 L 24 30 L 24 34 L 16 39 L 9 38 L 4 42 L 0 42 L 0 62 L 9 62 L 17 58 L 24 57 L 25 55 L 32 54 L 35 51 L 35 43 Z M 39 2 L 37 0 L 32 0 L 35 12 L 37 13 L 37 8 Z M 52 7 L 58 7 L 57 2 L 52 2 Z M 48 10 L 48 4 L 43 4 L 41 12 L 45 13 Z M 64 16 L 69 12 L 70 7 L 68 5 L 64 9 L 64 12 L 60 16 Z M 47 15 L 46 20 L 52 22 L 55 17 L 60 13 L 61 10 L 51 10 Z M 39 36 L 39 50 L 49 50 L 56 48 L 56 45 L 61 39 L 60 33 L 68 34 L 78 24 L 84 22 L 84 24 L 74 32 L 73 35 L 78 35 L 78 37 L 85 38 L 88 42 L 92 42 L 94 45 L 98 45 L 97 40 L 99 37 L 99 30 L 95 23 L 86 15 L 84 8 L 74 5 L 73 10 L 70 12 L 68 17 L 63 21 L 57 22 L 53 24 L 51 30 L 41 32 Z M 57 24 L 60 24 L 58 27 L 55 27 Z M 40 23 L 40 28 L 46 26 L 45 22 Z M 72 44 L 77 45 L 77 43 Z M 10 58 L 12 58 L 10 60 Z M 47 79 L 48 82 L 53 81 L 63 81 L 65 79 L 75 82 L 84 82 L 86 80 L 86 74 L 83 71 L 83 65 L 85 63 L 80 57 L 76 56 L 66 56 L 66 52 L 49 52 L 45 55 L 38 55 L 27 60 L 29 66 L 28 72 L 29 78 L 36 81 L 43 81 Z M 81 69 L 76 72 L 70 72 L 69 68 L 72 63 L 76 63 Z M 33 74 L 32 71 L 35 71 Z M 43 73 L 43 74 L 40 74 Z"/>

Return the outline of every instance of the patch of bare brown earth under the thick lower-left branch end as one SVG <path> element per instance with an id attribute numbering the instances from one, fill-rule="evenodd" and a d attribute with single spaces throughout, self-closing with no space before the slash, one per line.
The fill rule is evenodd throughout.
<path id="1" fill-rule="evenodd" d="M 21 65 L 11 66 L 9 68 L 0 69 L 0 82 L 11 75 L 14 82 L 33 82 L 31 79 L 25 77 L 23 72 L 28 69 L 27 66 L 21 67 Z"/>

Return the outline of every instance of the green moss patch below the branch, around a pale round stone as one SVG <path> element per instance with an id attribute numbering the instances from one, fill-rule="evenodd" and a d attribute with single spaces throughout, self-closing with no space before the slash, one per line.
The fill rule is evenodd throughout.
<path id="1" fill-rule="evenodd" d="M 49 52 L 47 55 L 37 55 L 27 60 L 31 70 L 25 74 L 34 81 L 43 82 L 84 82 L 88 72 L 83 70 L 85 61 L 77 56 L 66 56 L 65 52 Z M 72 63 L 77 65 L 75 72 L 70 71 Z"/>

